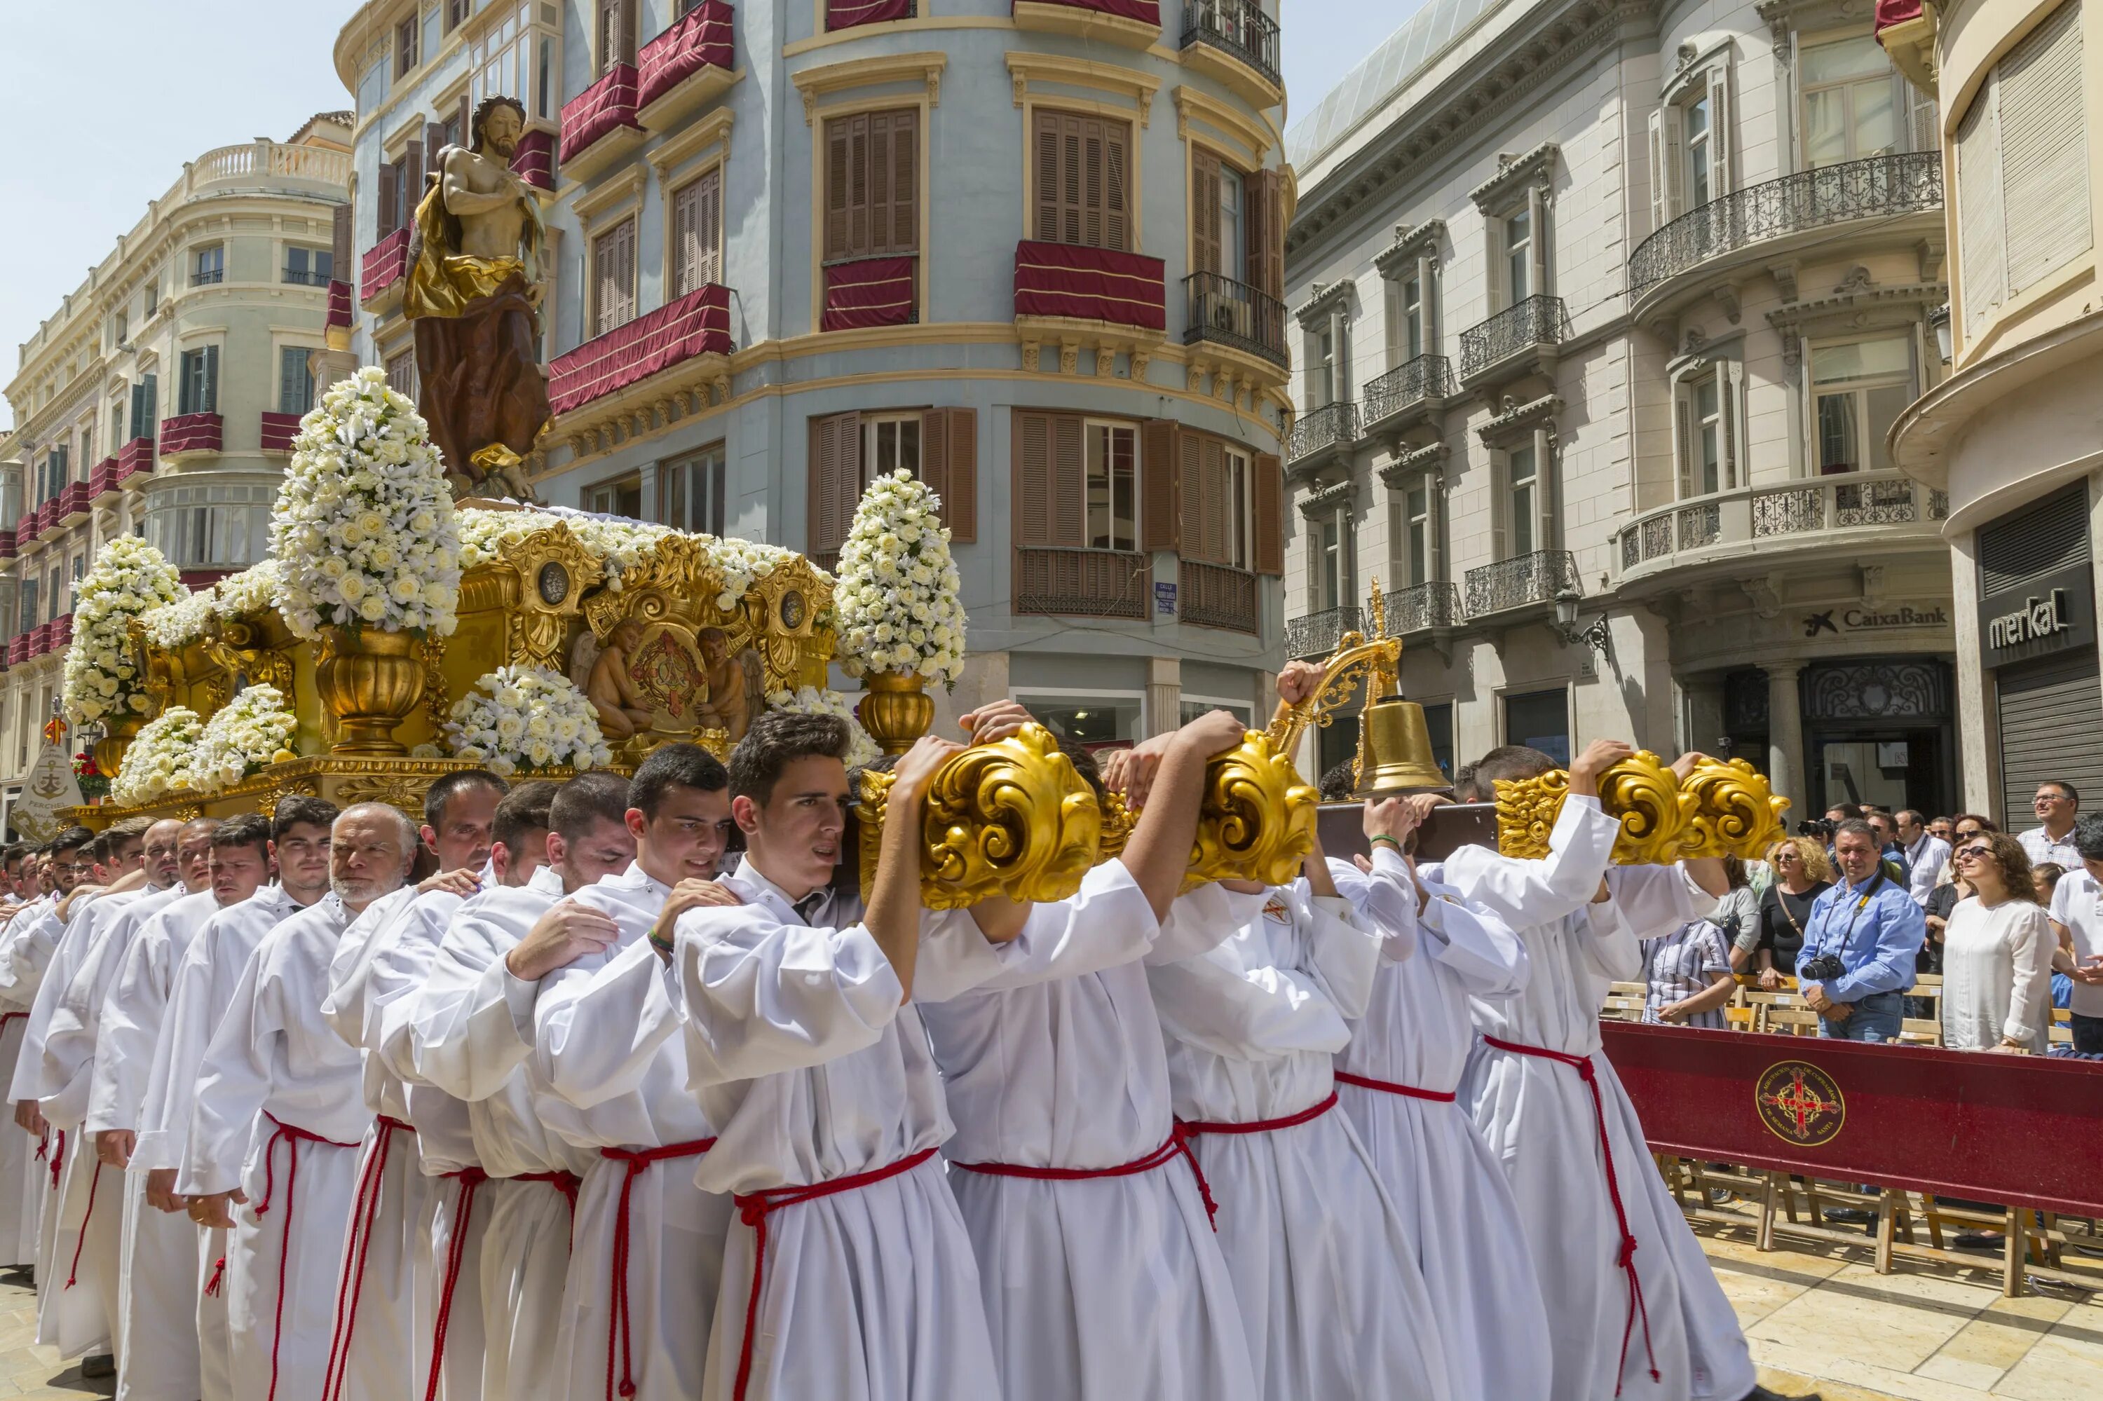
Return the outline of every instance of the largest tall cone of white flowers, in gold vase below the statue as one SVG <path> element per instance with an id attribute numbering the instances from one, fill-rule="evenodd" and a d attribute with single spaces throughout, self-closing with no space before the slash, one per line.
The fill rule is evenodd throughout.
<path id="1" fill-rule="evenodd" d="M 387 372 L 336 381 L 299 421 L 271 513 L 278 608 L 301 637 L 324 627 L 448 635 L 461 536 L 431 429 Z"/>

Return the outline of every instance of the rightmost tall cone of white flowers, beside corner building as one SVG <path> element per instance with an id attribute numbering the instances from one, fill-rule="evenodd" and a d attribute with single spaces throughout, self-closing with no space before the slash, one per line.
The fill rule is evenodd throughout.
<path id="1" fill-rule="evenodd" d="M 942 528 L 942 499 L 904 471 L 877 478 L 854 507 L 833 589 L 839 665 L 848 675 L 963 675 L 963 600 Z"/>

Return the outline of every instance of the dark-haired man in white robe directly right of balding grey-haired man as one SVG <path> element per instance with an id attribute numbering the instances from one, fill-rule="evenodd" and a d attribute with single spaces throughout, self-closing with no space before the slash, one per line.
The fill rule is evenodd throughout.
<path id="1" fill-rule="evenodd" d="M 345 1302 L 330 1351 L 353 1386 L 400 1386 L 427 1395 L 437 1334 L 440 1279 L 450 1231 L 435 1216 L 452 1218 L 471 1201 L 467 1174 L 479 1172 L 467 1134 L 467 1115 L 444 1096 L 425 1096 L 412 1109 L 408 1085 L 376 1054 L 379 1003 L 414 982 L 421 953 L 435 942 L 461 900 L 482 888 L 490 860 L 490 829 L 507 785 L 496 774 L 469 768 L 431 783 L 423 799 L 421 841 L 437 856 L 440 875 L 404 886 L 374 900 L 336 945 L 322 1014 L 347 1045 L 364 1052 L 364 1096 L 372 1111 L 358 1161 L 360 1216 L 351 1222 L 345 1260 L 351 1271 L 355 1313 Z M 406 940 L 404 928 L 423 930 Z M 402 955 L 400 966 L 393 961 Z M 421 1109 L 421 1115 L 416 1113 Z M 440 1182 L 440 1178 L 452 1178 Z M 370 1189 L 364 1184 L 370 1182 Z M 440 1239 L 433 1239 L 437 1231 Z M 463 1363 L 450 1401 L 473 1401 L 482 1363 L 479 1308 L 463 1334 L 448 1327 L 450 1353 Z M 383 1380 L 385 1378 L 385 1380 Z"/>

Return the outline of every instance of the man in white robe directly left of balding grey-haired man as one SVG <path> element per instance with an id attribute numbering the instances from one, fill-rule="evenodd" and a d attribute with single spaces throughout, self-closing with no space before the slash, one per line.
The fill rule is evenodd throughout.
<path id="1" fill-rule="evenodd" d="M 278 884 L 206 919 L 181 957 L 172 959 L 166 1012 L 139 1106 L 139 1142 L 132 1149 L 132 1172 L 145 1174 L 149 1207 L 189 1220 L 189 1203 L 175 1191 L 175 1182 L 189 1151 L 198 1069 L 257 945 L 328 894 L 328 831 L 336 814 L 336 806 L 320 797 L 280 799 L 269 825 L 269 862 Z M 225 1268 L 225 1229 L 196 1229 L 193 1294 L 204 1401 L 229 1401 L 233 1395 Z"/>

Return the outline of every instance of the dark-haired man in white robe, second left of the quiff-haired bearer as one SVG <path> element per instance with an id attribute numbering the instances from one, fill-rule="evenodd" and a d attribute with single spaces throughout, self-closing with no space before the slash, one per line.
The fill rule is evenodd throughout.
<path id="1" fill-rule="evenodd" d="M 635 833 L 627 825 L 629 780 L 589 772 L 549 804 L 547 865 L 524 886 L 471 898 L 446 930 L 423 987 L 402 999 L 416 1077 L 467 1102 L 469 1130 L 490 1182 L 482 1235 L 482 1390 L 492 1401 L 568 1401 L 572 1382 L 557 1346 L 564 1279 L 585 1172 L 599 1155 L 549 1130 L 547 1085 L 532 1067 L 528 974 L 568 966 L 601 949 L 614 921 L 564 894 L 627 871 Z M 595 930 L 601 938 L 580 936 Z"/>

